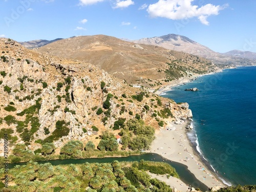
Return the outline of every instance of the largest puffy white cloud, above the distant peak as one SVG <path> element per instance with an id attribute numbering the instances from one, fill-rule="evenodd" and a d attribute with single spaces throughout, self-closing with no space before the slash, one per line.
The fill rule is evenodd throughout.
<path id="1" fill-rule="evenodd" d="M 208 16 L 218 15 L 220 10 L 228 7 L 228 4 L 223 6 L 206 4 L 202 7 L 192 5 L 194 0 L 159 0 L 155 4 L 151 4 L 147 8 L 147 12 L 151 17 L 165 17 L 173 20 L 187 19 L 198 17 L 204 25 L 209 25 Z"/>

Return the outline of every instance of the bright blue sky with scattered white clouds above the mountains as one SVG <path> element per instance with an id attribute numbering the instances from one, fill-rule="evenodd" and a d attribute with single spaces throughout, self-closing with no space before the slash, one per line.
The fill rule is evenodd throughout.
<path id="1" fill-rule="evenodd" d="M 0 0 L 0 37 L 184 35 L 216 52 L 256 52 L 255 0 Z"/>

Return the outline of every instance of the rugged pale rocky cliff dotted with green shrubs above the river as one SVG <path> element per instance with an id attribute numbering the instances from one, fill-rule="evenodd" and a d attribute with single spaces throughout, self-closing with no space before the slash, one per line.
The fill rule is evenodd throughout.
<path id="1" fill-rule="evenodd" d="M 94 139 L 112 130 L 119 118 L 137 115 L 158 129 L 158 121 L 181 123 L 192 117 L 187 103 L 130 87 L 88 63 L 38 54 L 5 38 L 0 51 L 0 129 L 12 130 L 10 142 L 32 150 L 40 146 L 39 139 L 52 139 L 57 147 L 71 139 Z M 58 137 L 57 129 L 67 134 Z"/>

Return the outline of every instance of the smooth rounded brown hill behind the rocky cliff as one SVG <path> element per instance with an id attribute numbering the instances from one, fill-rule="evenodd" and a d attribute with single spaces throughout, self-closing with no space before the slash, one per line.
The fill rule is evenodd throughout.
<path id="1" fill-rule="evenodd" d="M 129 84 L 152 89 L 169 80 L 217 70 L 209 60 L 198 56 L 105 35 L 62 39 L 36 51 L 89 62 Z"/>

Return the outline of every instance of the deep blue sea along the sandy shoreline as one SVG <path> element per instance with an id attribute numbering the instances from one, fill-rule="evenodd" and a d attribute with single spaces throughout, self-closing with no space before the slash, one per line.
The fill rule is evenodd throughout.
<path id="1" fill-rule="evenodd" d="M 194 87 L 199 91 L 184 91 Z M 195 127 L 189 137 L 197 135 L 198 150 L 221 178 L 256 184 L 256 67 L 205 75 L 162 96 L 189 103 Z"/>

